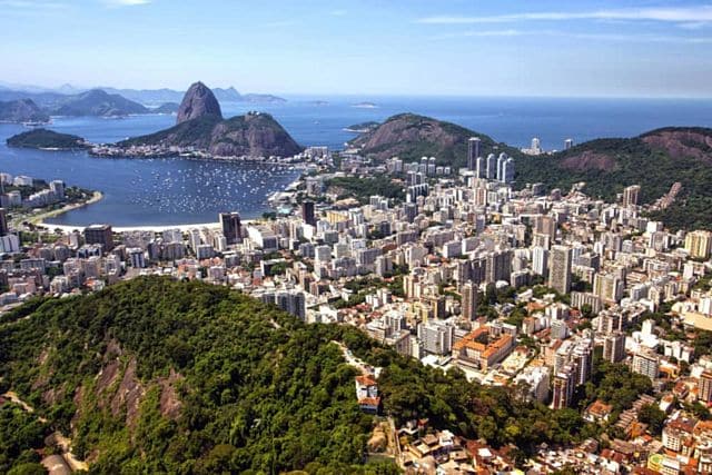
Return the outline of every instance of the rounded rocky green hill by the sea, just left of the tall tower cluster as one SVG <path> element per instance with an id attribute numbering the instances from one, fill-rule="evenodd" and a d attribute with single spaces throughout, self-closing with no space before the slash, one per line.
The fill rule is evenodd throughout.
<path id="1" fill-rule="evenodd" d="M 494 151 L 520 155 L 518 150 L 497 144 L 486 135 L 415 113 L 393 116 L 349 141 L 349 146 L 378 159 L 400 157 L 418 160 L 427 156 L 436 157 L 439 165 L 458 168 L 467 165 L 467 139 L 471 137 L 479 137 L 481 155 Z"/>

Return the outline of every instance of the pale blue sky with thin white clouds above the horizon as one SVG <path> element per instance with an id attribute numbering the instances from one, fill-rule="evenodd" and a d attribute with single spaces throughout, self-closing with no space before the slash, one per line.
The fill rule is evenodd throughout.
<path id="1" fill-rule="evenodd" d="M 712 0 L 0 0 L 0 81 L 712 97 Z"/>

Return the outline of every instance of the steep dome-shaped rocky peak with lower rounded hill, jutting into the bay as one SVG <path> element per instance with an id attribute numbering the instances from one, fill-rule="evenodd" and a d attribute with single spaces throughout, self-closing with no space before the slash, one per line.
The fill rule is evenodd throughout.
<path id="1" fill-rule="evenodd" d="M 177 122 L 169 129 L 131 138 L 118 146 L 194 147 L 221 157 L 291 157 L 301 151 L 268 113 L 249 112 L 222 119 L 217 99 L 201 82 L 196 82 L 186 92 Z"/>

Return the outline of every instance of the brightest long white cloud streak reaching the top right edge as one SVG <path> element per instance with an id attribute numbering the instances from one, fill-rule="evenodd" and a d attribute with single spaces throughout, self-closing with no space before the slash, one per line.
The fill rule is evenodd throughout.
<path id="1" fill-rule="evenodd" d="M 505 23 L 516 21 L 567 21 L 567 20 L 641 20 L 663 22 L 712 22 L 712 4 L 679 8 L 611 9 L 583 12 L 545 11 L 496 16 L 434 16 L 416 20 L 424 24 L 475 24 Z"/>

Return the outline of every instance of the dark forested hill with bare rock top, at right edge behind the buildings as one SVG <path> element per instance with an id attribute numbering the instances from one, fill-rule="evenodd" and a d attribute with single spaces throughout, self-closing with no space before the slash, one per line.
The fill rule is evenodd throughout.
<path id="1" fill-rule="evenodd" d="M 566 151 L 516 160 L 516 184 L 543 182 L 567 191 L 585 181 L 584 192 L 614 201 L 631 185 L 641 186 L 642 204 L 661 198 L 680 181 L 670 208 L 653 214 L 673 229 L 712 229 L 712 129 L 669 127 L 640 137 L 597 139 Z"/>

